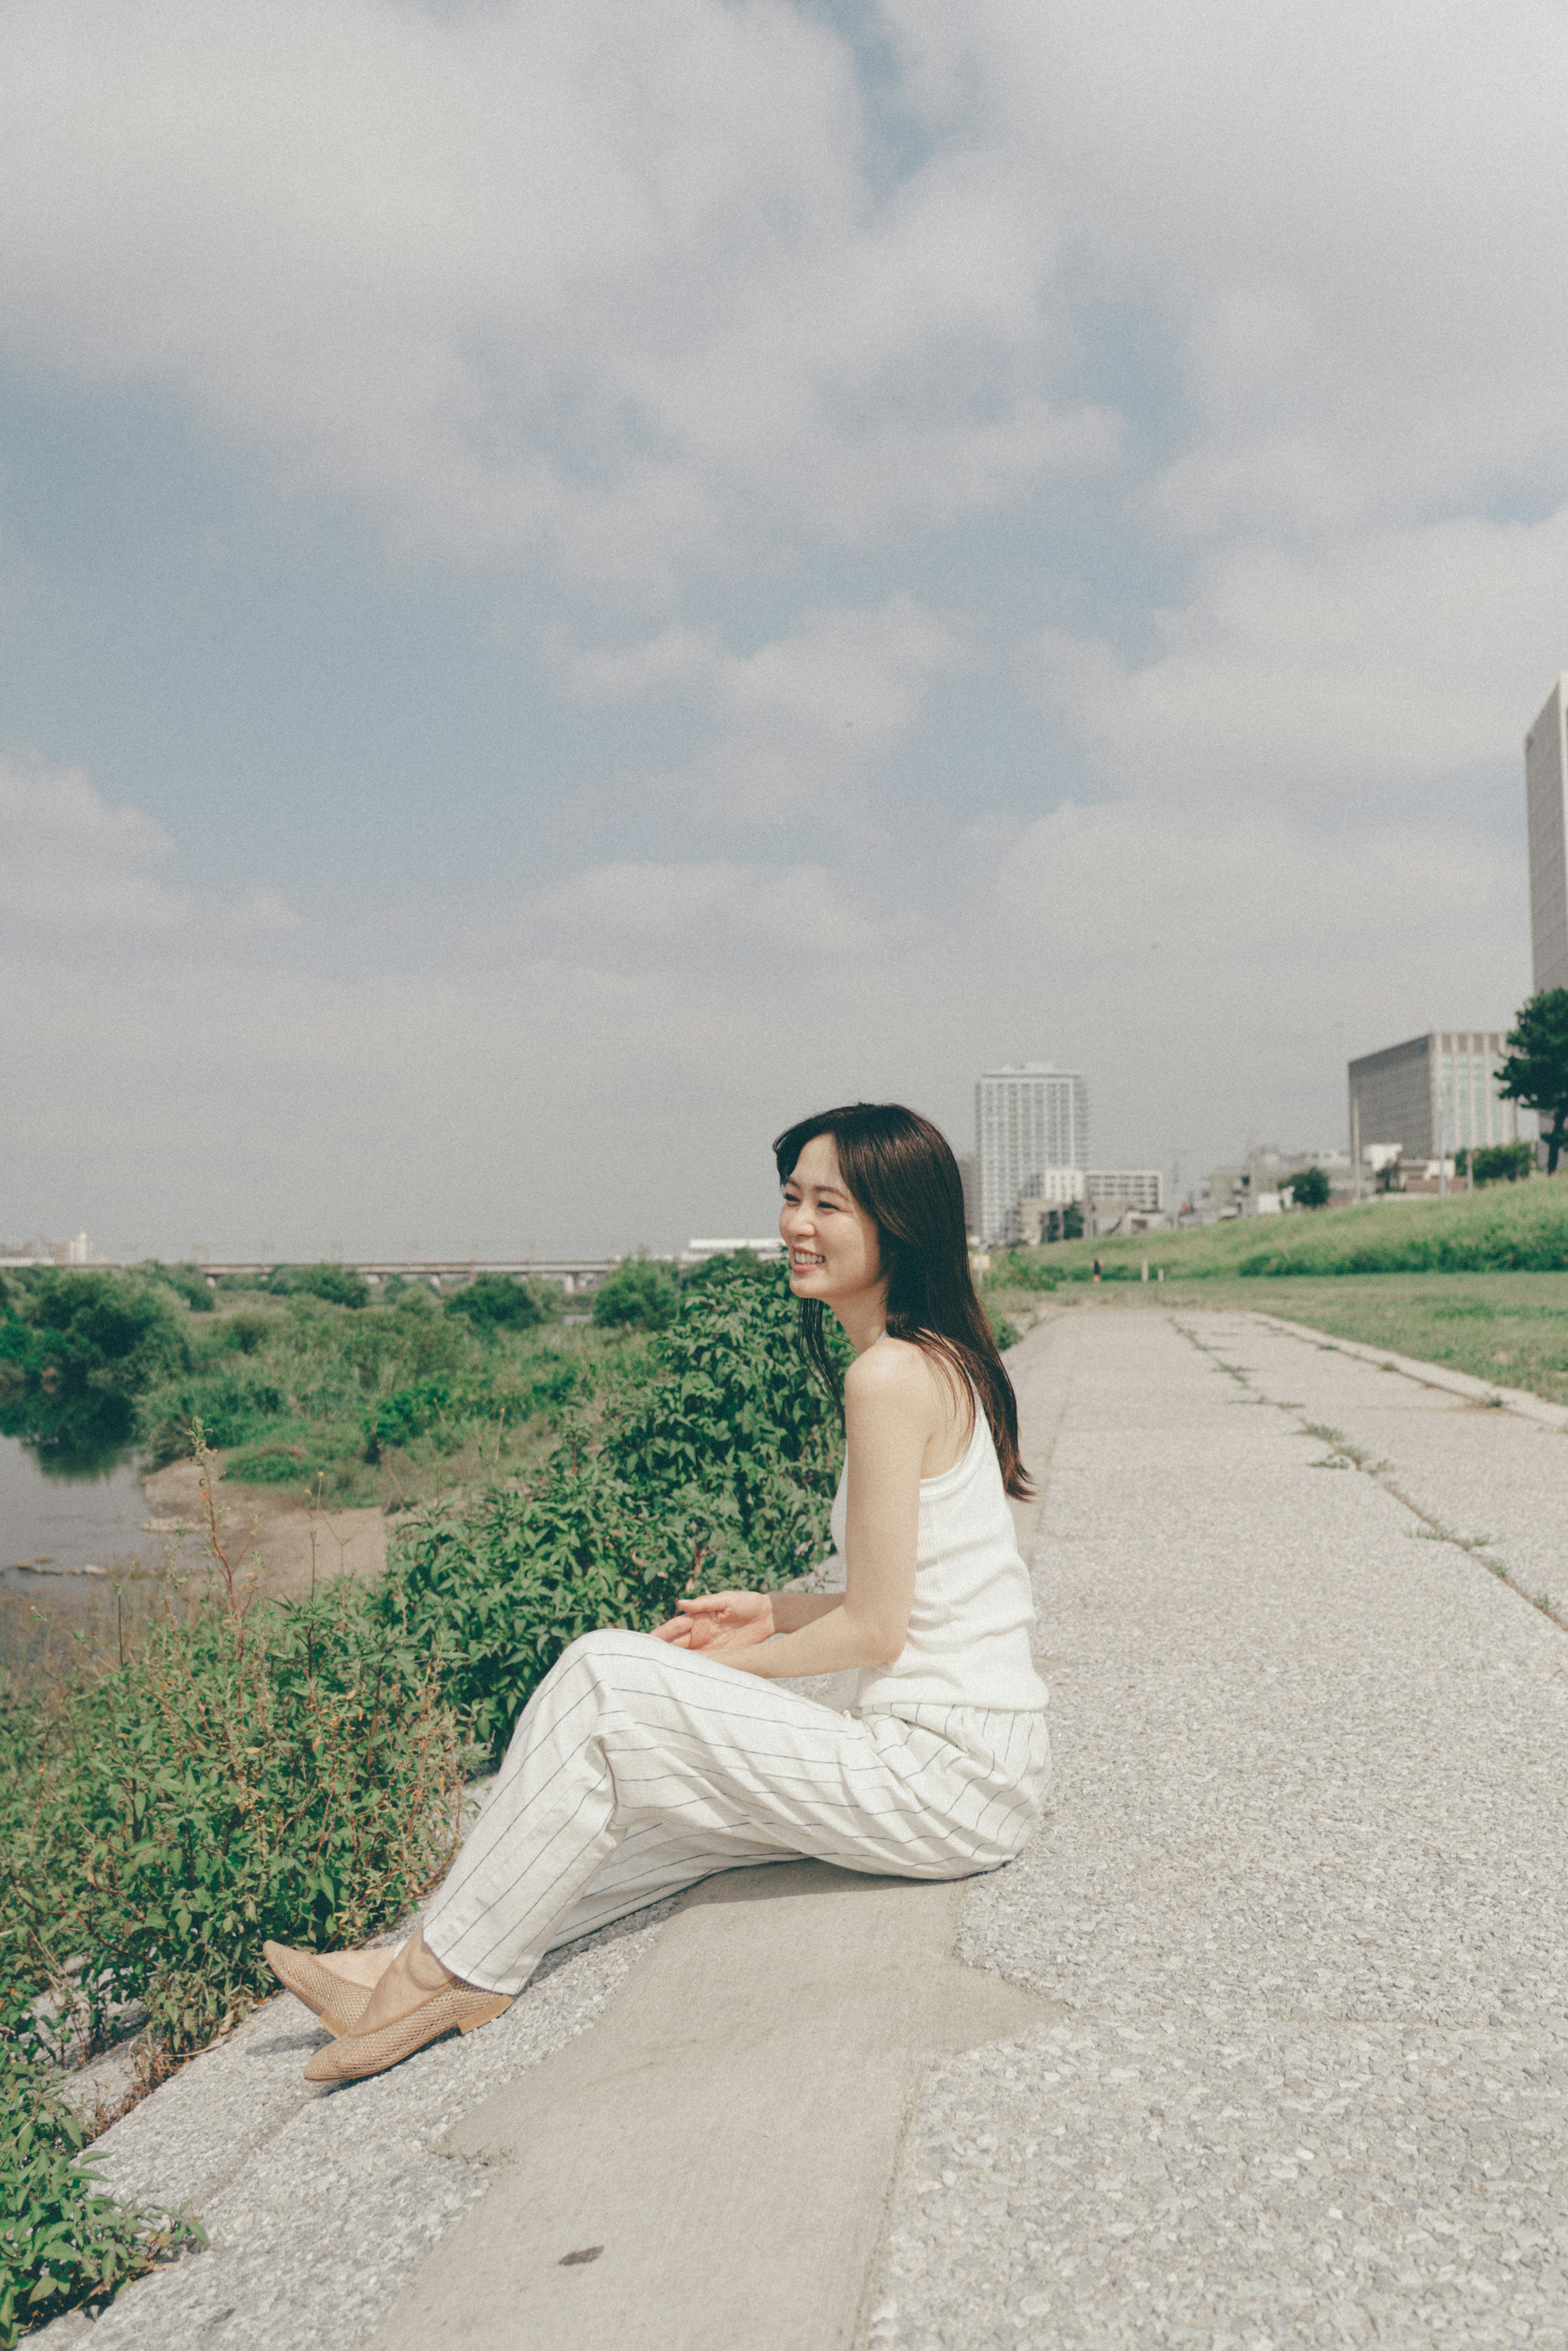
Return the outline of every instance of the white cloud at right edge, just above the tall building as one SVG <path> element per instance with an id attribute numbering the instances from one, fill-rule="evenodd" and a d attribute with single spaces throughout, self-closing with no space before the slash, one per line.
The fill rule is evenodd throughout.
<path id="1" fill-rule="evenodd" d="M 1307 797 L 1338 820 L 1368 788 L 1516 762 L 1568 654 L 1566 590 L 1568 508 L 1309 550 L 1239 541 L 1159 616 L 1145 665 L 1053 632 L 1034 675 L 1114 792 Z"/>

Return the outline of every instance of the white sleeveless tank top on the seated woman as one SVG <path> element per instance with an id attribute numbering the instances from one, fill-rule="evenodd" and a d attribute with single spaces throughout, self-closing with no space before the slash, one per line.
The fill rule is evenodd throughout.
<path id="1" fill-rule="evenodd" d="M 832 1498 L 832 1547 L 844 1559 L 849 1460 Z M 992 1707 L 999 1714 L 1046 1704 L 1030 1634 L 1034 1592 L 1018 1554 L 1013 1514 L 990 1422 L 976 1396 L 964 1460 L 919 1481 L 919 1540 L 910 1636 L 893 1665 L 870 1665 L 856 1714 L 905 1707 Z"/>

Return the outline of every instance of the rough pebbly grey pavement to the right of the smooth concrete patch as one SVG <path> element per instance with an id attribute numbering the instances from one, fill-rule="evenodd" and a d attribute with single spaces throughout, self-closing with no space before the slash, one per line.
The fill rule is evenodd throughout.
<path id="1" fill-rule="evenodd" d="M 1429 1523 L 1535 1589 L 1568 1446 L 1180 1321 L 1013 1359 L 1058 1789 L 959 1951 L 1070 2017 L 931 2074 L 870 2339 L 1568 2344 L 1568 1641 Z"/>

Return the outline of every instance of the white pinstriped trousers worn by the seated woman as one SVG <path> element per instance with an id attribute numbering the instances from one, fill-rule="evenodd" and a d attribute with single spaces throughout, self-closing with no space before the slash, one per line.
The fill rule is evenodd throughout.
<path id="1" fill-rule="evenodd" d="M 719 1869 L 811 1855 L 966 1878 L 1023 1848 L 1048 1773 L 1041 1712 L 835 1714 L 701 1650 L 590 1632 L 534 1690 L 425 1944 L 522 1991 L 545 1951 Z"/>

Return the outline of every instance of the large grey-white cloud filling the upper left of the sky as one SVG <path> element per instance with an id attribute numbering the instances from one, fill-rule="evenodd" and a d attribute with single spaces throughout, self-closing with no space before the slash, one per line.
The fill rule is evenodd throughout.
<path id="1" fill-rule="evenodd" d="M 1037 183 L 959 150 L 875 195 L 851 54 L 783 0 L 31 0 L 7 49 L 12 353 L 411 543 L 668 583 L 1110 449 L 1051 404 Z"/>

